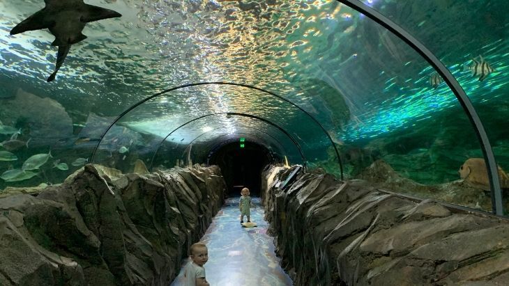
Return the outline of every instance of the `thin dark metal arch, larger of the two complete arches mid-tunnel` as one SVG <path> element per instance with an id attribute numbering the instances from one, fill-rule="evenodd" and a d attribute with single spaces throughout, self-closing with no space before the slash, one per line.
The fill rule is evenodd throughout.
<path id="1" fill-rule="evenodd" d="M 291 102 L 290 100 L 287 100 L 286 98 L 281 97 L 280 95 L 276 95 L 275 93 L 272 93 L 271 91 L 264 90 L 262 88 L 257 88 L 256 86 L 250 86 L 248 84 L 236 84 L 236 83 L 225 82 L 225 81 L 206 81 L 206 82 L 199 82 L 199 83 L 194 83 L 194 84 L 183 84 L 182 86 L 176 86 L 176 87 L 173 87 L 173 88 L 168 88 L 168 89 L 162 90 L 159 93 L 155 93 L 155 94 L 153 94 L 153 95 L 151 95 L 149 97 L 146 97 L 144 100 L 140 100 L 139 102 L 133 104 L 128 109 L 126 109 L 125 111 L 120 113 L 119 116 L 117 116 L 115 118 L 115 120 L 112 122 L 112 124 L 109 125 L 109 127 L 105 130 L 105 132 L 100 136 L 99 142 L 97 143 L 96 148 L 94 148 L 94 150 L 92 152 L 91 162 L 93 162 L 94 159 L 96 159 L 96 152 L 97 152 L 97 150 L 99 148 L 99 145 L 102 142 L 102 139 L 104 138 L 104 136 L 106 136 L 106 134 L 109 132 L 109 129 L 111 129 L 113 127 L 113 125 L 115 125 L 115 123 L 120 120 L 120 118 L 123 118 L 123 116 L 125 116 L 127 113 L 129 113 L 129 111 L 131 111 L 132 109 L 135 109 L 137 106 L 139 106 L 141 104 L 144 104 L 144 102 L 147 102 L 147 101 L 153 99 L 154 97 L 158 97 L 159 95 L 162 95 L 164 93 L 169 93 L 170 91 L 173 91 L 173 90 L 177 90 L 177 89 L 180 89 L 180 88 L 188 88 L 188 87 L 191 87 L 191 86 L 205 86 L 205 85 L 209 85 L 209 84 L 218 84 L 218 85 L 226 85 L 226 86 L 242 86 L 242 87 L 245 87 L 245 88 L 251 88 L 251 89 L 254 89 L 254 90 L 259 90 L 262 93 L 267 93 L 269 95 L 278 97 L 280 100 L 283 100 L 284 102 L 287 102 L 287 103 L 295 106 L 299 110 L 301 110 L 303 113 L 305 113 L 305 115 L 307 115 L 309 118 L 311 118 L 311 120 L 313 120 L 315 123 L 317 123 L 317 125 L 320 127 L 320 129 L 327 136 L 328 140 L 331 141 L 331 145 L 333 146 L 333 148 L 335 150 L 335 153 L 336 153 L 337 163 L 340 164 L 341 180 L 344 180 L 344 178 L 343 178 L 343 164 L 341 162 L 340 152 L 337 151 L 336 144 L 334 143 L 333 138 L 331 138 L 331 135 L 328 134 L 327 130 L 310 113 L 308 113 L 307 111 L 302 109 L 301 106 L 298 106 L 294 102 Z"/>

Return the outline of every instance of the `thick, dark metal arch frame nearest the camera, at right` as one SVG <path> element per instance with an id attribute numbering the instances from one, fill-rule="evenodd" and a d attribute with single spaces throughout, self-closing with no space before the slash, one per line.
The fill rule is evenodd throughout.
<path id="1" fill-rule="evenodd" d="M 359 13 L 363 13 L 374 22 L 377 22 L 384 28 L 391 31 L 398 38 L 407 43 L 410 47 L 412 47 L 415 51 L 417 51 L 420 56 L 423 56 L 425 60 L 434 67 L 436 72 L 440 74 L 440 76 L 446 81 L 446 84 L 449 86 L 451 90 L 453 90 L 454 95 L 456 96 L 459 104 L 462 105 L 463 110 L 466 113 L 466 116 L 469 117 L 470 122 L 473 125 L 473 128 L 476 131 L 478 136 L 478 140 L 480 141 L 481 150 L 483 150 L 483 155 L 485 159 L 485 164 L 488 166 L 488 177 L 489 177 L 489 186 L 492 192 L 492 212 L 499 216 L 503 216 L 503 205 L 502 205 L 502 189 L 499 182 L 499 173 L 496 165 L 496 160 L 493 154 L 492 145 L 489 143 L 489 138 L 486 134 L 485 128 L 483 126 L 483 122 L 481 122 L 476 109 L 473 108 L 472 102 L 469 100 L 469 97 L 466 96 L 465 91 L 462 86 L 459 85 L 453 74 L 449 72 L 447 67 L 443 65 L 443 63 L 436 58 L 432 51 L 427 49 L 423 43 L 414 38 L 409 32 L 403 29 L 401 26 L 395 24 L 395 22 L 391 21 L 387 17 L 383 16 L 381 13 L 377 12 L 370 6 L 365 5 L 364 3 L 358 0 L 337 0 L 340 3 L 343 3 L 354 10 L 357 10 Z"/>

